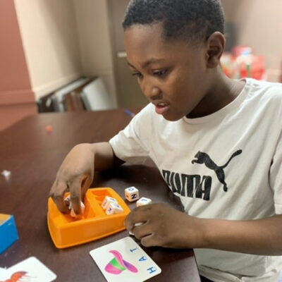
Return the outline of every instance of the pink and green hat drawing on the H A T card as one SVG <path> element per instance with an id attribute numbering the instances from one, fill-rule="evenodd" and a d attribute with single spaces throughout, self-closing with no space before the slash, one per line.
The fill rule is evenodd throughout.
<path id="1" fill-rule="evenodd" d="M 129 262 L 126 262 L 121 253 L 117 250 L 109 251 L 114 255 L 114 259 L 111 259 L 111 262 L 106 265 L 105 270 L 110 274 L 121 274 L 125 269 L 128 269 L 131 272 L 138 272 L 138 269 Z"/>

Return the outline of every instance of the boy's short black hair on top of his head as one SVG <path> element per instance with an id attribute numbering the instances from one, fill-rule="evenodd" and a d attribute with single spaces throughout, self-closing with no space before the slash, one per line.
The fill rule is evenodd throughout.
<path id="1" fill-rule="evenodd" d="M 197 44 L 216 31 L 224 33 L 225 17 L 220 0 L 130 0 L 123 29 L 160 22 L 165 39 Z"/>

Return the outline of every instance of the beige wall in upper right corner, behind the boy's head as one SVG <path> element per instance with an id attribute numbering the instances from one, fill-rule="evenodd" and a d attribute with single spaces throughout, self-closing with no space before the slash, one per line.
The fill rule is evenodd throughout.
<path id="1" fill-rule="evenodd" d="M 226 20 L 238 28 L 238 43 L 266 57 L 269 81 L 278 81 L 282 64 L 282 1 L 221 0 Z"/>

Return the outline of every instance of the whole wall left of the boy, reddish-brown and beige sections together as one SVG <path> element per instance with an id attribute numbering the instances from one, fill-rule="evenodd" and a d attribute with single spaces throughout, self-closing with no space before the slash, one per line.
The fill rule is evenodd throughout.
<path id="1" fill-rule="evenodd" d="M 106 0 L 0 1 L 0 130 L 82 75 L 100 76 L 116 104 L 108 20 Z"/>

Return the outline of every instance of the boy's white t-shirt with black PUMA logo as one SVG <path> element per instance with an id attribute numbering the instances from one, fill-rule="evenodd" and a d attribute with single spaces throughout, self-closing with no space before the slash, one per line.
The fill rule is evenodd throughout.
<path id="1" fill-rule="evenodd" d="M 281 84 L 246 79 L 233 102 L 202 118 L 166 121 L 149 104 L 110 144 L 123 161 L 150 157 L 191 216 L 282 214 Z M 194 251 L 200 273 L 216 282 L 274 282 L 282 268 L 277 256 Z"/>

